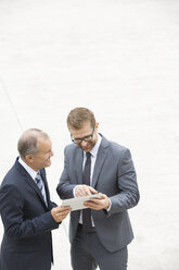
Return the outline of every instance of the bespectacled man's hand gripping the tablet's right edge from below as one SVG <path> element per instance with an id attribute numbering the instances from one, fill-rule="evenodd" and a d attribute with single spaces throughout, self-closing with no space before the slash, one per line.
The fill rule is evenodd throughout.
<path id="1" fill-rule="evenodd" d="M 99 198 L 90 198 L 84 205 L 94 210 L 107 209 L 110 207 L 110 199 L 105 194 L 102 194 Z"/>

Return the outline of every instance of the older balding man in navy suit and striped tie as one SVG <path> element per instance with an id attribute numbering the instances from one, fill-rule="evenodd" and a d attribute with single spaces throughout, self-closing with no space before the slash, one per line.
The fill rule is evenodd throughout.
<path id="1" fill-rule="evenodd" d="M 51 164 L 52 144 L 37 128 L 18 140 L 20 157 L 0 187 L 4 235 L 1 270 L 49 270 L 53 261 L 51 230 L 57 229 L 69 208 L 50 200 L 44 168 Z"/>

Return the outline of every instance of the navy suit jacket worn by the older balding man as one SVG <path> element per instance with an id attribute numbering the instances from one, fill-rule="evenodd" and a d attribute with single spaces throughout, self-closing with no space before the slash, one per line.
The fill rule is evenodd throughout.
<path id="1" fill-rule="evenodd" d="M 59 228 L 50 210 L 46 171 L 41 171 L 48 207 L 40 189 L 16 160 L 0 187 L 0 213 L 4 234 L 0 250 L 1 270 L 49 270 L 52 257 L 51 230 Z"/>

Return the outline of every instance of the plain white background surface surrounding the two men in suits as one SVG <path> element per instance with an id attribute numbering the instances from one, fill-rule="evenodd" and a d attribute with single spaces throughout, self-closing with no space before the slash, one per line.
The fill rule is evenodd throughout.
<path id="1" fill-rule="evenodd" d="M 66 115 L 89 107 L 100 132 L 130 148 L 138 172 L 129 270 L 179 269 L 178 14 L 175 0 L 0 1 L 0 179 L 22 131 L 43 128 L 60 204 Z M 55 270 L 71 269 L 67 225 L 53 232 Z"/>

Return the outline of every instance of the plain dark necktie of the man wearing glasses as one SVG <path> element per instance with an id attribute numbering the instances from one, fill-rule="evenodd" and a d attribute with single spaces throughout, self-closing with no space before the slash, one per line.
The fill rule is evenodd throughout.
<path id="1" fill-rule="evenodd" d="M 82 183 L 90 185 L 90 172 L 91 172 L 91 154 L 86 154 L 87 160 L 84 168 Z M 90 231 L 92 228 L 91 223 L 91 209 L 87 208 L 82 210 L 82 229 L 84 231 Z"/>

